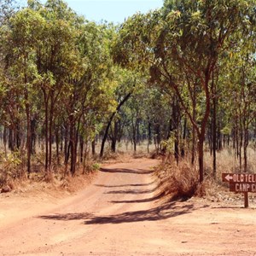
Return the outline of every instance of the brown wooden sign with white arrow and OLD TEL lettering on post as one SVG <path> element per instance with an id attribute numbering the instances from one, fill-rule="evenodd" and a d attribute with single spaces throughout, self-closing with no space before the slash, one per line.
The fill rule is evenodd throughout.
<path id="1" fill-rule="evenodd" d="M 244 207 L 249 207 L 248 192 L 256 193 L 256 174 L 222 173 L 222 181 L 230 183 L 230 191 L 244 194 Z"/>

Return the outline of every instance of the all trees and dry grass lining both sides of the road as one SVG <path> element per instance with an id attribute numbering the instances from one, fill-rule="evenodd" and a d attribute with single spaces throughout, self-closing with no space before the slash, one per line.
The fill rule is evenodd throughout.
<path id="1" fill-rule="evenodd" d="M 256 172 L 255 9 L 165 0 L 114 26 L 61 0 L 1 0 L 0 189 L 131 151 L 160 157 L 177 196 Z"/>

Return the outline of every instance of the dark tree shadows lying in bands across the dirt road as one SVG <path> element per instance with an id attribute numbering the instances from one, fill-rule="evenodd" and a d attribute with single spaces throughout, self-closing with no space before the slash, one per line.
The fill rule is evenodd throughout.
<path id="1" fill-rule="evenodd" d="M 135 173 L 138 175 L 143 174 L 151 174 L 154 171 L 147 171 L 147 170 L 130 170 L 130 169 L 101 169 L 100 172 L 122 172 L 122 173 Z M 135 181 L 136 182 L 136 181 Z M 155 185 L 154 185 L 155 184 Z M 154 185 L 154 188 L 151 187 Z M 104 190 L 102 191 L 102 195 L 107 194 L 124 194 L 124 195 L 147 195 L 153 193 L 157 188 L 157 184 L 155 181 L 151 183 L 128 183 L 128 184 L 119 184 L 119 185 L 108 185 L 108 184 L 96 184 L 97 187 L 102 187 Z M 148 187 L 149 186 L 149 187 Z M 114 190 L 117 188 L 117 190 Z M 118 188 L 125 188 L 125 189 L 118 189 Z M 131 200 L 121 200 L 121 201 L 110 201 L 112 204 L 137 204 L 137 203 L 144 203 L 144 202 L 151 202 L 157 201 L 161 197 L 165 196 L 165 193 L 159 193 L 156 195 L 148 195 L 146 198 L 131 198 Z M 133 196 L 135 197 L 135 196 Z M 115 197 L 113 197 L 115 198 Z M 106 199 L 108 200 L 108 199 Z M 160 202 L 159 202 L 160 203 Z M 206 206 L 207 207 L 207 206 Z M 165 203 L 162 202 L 158 206 L 153 205 L 153 207 L 140 210 L 140 211 L 129 211 L 129 212 L 120 212 L 117 214 L 109 214 L 99 216 L 96 215 L 94 212 L 81 212 L 81 213 L 61 213 L 61 214 L 51 214 L 51 215 L 43 215 L 39 216 L 38 218 L 49 219 L 49 220 L 62 220 L 62 221 L 71 221 L 71 220 L 84 220 L 84 224 L 121 224 L 121 223 L 136 223 L 142 221 L 157 221 L 167 218 L 174 218 L 178 215 L 188 214 L 192 211 L 195 211 L 195 205 L 190 202 L 177 202 L 177 201 L 166 201 Z M 126 208 L 127 211 L 127 208 Z"/>

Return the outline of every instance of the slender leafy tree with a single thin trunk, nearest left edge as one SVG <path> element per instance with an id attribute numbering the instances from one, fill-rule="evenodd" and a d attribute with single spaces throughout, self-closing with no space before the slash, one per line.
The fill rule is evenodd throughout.
<path id="1" fill-rule="evenodd" d="M 6 43 L 9 44 L 9 54 L 6 61 L 9 64 L 9 75 L 15 90 L 18 90 L 20 107 L 26 113 L 26 158 L 27 172 L 31 172 L 32 154 L 32 97 L 36 94 L 34 83 L 37 79 L 36 45 L 40 40 L 41 27 L 44 20 L 32 9 L 22 9 L 10 20 L 11 30 Z"/>

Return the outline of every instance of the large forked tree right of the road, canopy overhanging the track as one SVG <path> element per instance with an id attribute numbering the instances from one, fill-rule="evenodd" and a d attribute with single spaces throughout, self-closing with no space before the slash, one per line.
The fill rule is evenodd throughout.
<path id="1" fill-rule="evenodd" d="M 199 180 L 204 179 L 204 142 L 211 107 L 211 80 L 230 35 L 247 22 L 253 1 L 165 1 L 164 8 L 134 15 L 120 28 L 116 59 L 147 63 L 160 86 L 173 90 L 198 138 Z M 193 116 L 193 101 L 200 113 Z"/>

